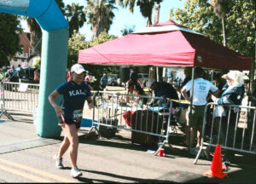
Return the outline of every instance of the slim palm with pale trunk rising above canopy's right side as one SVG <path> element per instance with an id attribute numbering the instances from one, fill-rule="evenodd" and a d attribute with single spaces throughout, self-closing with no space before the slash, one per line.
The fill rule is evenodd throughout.
<path id="1" fill-rule="evenodd" d="M 226 35 L 225 35 L 225 23 L 224 18 L 225 14 L 228 11 L 228 0 L 211 0 L 214 13 L 222 21 L 222 32 L 223 32 L 223 44 L 226 46 Z"/>

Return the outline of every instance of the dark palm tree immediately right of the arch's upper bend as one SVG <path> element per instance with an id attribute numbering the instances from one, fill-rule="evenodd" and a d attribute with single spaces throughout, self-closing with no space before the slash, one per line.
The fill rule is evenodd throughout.
<path id="1" fill-rule="evenodd" d="M 79 31 L 79 28 L 84 26 L 84 22 L 86 21 L 84 6 L 79 6 L 78 3 L 67 4 L 65 10 L 69 25 L 69 37 L 71 37 L 74 30 Z"/>

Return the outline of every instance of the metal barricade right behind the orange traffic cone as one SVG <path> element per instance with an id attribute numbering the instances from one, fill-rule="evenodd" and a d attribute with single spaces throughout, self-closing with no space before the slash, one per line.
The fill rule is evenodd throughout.
<path id="1" fill-rule="evenodd" d="M 201 147 L 196 155 L 197 163 L 202 151 L 210 151 L 218 144 L 224 150 L 256 154 L 256 107 L 218 105 L 208 103 L 205 108 Z"/>

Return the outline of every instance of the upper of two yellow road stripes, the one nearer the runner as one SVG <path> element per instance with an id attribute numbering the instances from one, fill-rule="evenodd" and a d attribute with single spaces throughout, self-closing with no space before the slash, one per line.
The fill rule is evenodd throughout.
<path id="1" fill-rule="evenodd" d="M 58 176 L 58 175 L 53 175 L 53 174 L 50 174 L 48 172 L 44 172 L 43 170 L 36 170 L 36 169 L 33 169 L 33 168 L 28 167 L 26 165 L 17 164 L 17 163 L 11 162 L 11 161 L 3 159 L 3 158 L 0 158 L 0 163 L 9 164 L 9 165 L 15 166 L 17 168 L 20 168 L 22 170 L 28 170 L 28 171 L 31 171 L 31 172 L 36 173 L 38 175 L 43 175 L 43 176 L 52 178 L 56 181 L 73 182 L 73 180 L 68 180 L 67 178 L 63 178 L 63 177 Z"/>

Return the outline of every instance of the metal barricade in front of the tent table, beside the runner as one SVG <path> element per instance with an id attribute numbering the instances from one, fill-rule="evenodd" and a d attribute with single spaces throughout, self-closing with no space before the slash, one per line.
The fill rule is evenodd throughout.
<path id="1" fill-rule="evenodd" d="M 104 92 L 96 92 L 93 99 L 95 107 L 92 118 L 93 126 L 90 131 L 92 129 L 98 131 L 96 126 L 106 126 L 157 136 L 159 148 L 155 154 L 165 144 L 168 144 L 173 118 L 172 101 L 145 95 Z M 160 106 L 150 107 L 148 106 L 150 101 L 159 101 Z"/>

